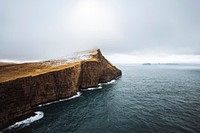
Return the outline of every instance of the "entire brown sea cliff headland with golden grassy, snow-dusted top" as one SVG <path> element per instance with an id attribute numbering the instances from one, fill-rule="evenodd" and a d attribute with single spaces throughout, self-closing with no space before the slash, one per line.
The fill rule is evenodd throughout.
<path id="1" fill-rule="evenodd" d="M 100 50 L 35 63 L 0 67 L 0 129 L 27 116 L 32 108 L 68 98 L 121 75 Z"/>

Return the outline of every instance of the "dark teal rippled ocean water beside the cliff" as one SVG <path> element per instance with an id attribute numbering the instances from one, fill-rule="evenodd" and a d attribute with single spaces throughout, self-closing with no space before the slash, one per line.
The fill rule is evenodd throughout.
<path id="1" fill-rule="evenodd" d="M 123 76 L 78 98 L 38 107 L 44 118 L 12 132 L 199 133 L 200 66 L 119 66 Z"/>

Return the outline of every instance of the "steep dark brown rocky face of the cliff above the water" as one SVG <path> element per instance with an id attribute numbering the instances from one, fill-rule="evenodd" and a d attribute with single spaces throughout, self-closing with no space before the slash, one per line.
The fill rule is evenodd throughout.
<path id="1" fill-rule="evenodd" d="M 0 129 L 33 115 L 32 108 L 39 104 L 71 97 L 79 89 L 98 86 L 120 75 L 121 71 L 100 50 L 94 50 L 90 58 L 66 67 L 1 81 Z"/>

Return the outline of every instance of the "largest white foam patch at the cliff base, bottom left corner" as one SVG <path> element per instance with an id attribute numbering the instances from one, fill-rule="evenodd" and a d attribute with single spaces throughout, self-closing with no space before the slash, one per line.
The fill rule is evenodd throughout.
<path id="1" fill-rule="evenodd" d="M 10 130 L 12 128 L 18 128 L 18 127 L 26 127 L 26 126 L 29 126 L 31 123 L 33 123 L 37 120 L 40 120 L 44 117 L 44 113 L 41 111 L 37 111 L 37 112 L 35 112 L 35 114 L 36 114 L 35 116 L 31 116 L 25 120 L 16 122 L 14 125 L 9 126 L 5 130 Z M 5 130 L 3 130 L 3 131 L 5 131 Z"/>

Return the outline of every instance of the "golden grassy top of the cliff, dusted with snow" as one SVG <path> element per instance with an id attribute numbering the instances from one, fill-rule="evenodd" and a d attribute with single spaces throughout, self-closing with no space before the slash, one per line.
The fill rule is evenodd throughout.
<path id="1" fill-rule="evenodd" d="M 73 53 L 72 55 L 61 57 L 54 60 L 0 65 L 0 83 L 17 78 L 36 76 L 52 71 L 58 71 L 80 65 L 82 61 L 97 61 L 98 49 Z"/>

